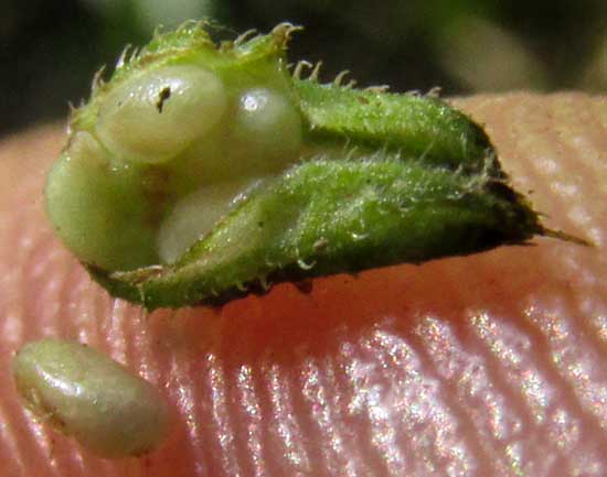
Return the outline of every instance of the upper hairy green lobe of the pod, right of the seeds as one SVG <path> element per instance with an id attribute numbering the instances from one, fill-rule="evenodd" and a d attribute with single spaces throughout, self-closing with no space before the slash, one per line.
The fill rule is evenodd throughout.
<path id="1" fill-rule="evenodd" d="M 503 176 L 484 131 L 445 101 L 310 80 L 294 82 L 310 141 L 400 152 L 470 173 Z M 489 167 L 487 167 L 489 165 Z"/>

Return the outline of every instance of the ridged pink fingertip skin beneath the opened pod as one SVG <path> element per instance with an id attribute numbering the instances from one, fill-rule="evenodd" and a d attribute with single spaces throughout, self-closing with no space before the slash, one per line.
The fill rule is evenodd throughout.
<path id="1" fill-rule="evenodd" d="M 63 135 L 0 145 L 0 458 L 9 475 L 605 475 L 607 100 L 457 101 L 546 226 L 423 265 L 275 288 L 221 310 L 111 300 L 54 238 L 45 170 Z M 306 293 L 309 291 L 309 293 Z M 31 421 L 8 370 L 44 336 L 86 340 L 175 408 L 157 452 L 107 462 Z"/>

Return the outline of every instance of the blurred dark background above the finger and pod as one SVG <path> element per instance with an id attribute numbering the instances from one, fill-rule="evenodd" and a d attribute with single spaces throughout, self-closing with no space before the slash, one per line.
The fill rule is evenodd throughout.
<path id="1" fill-rule="evenodd" d="M 322 59 L 324 80 L 350 69 L 397 91 L 607 94 L 607 0 L 2 0 L 0 135 L 66 117 L 156 25 L 205 17 L 234 33 L 305 25 L 289 55 Z"/>

